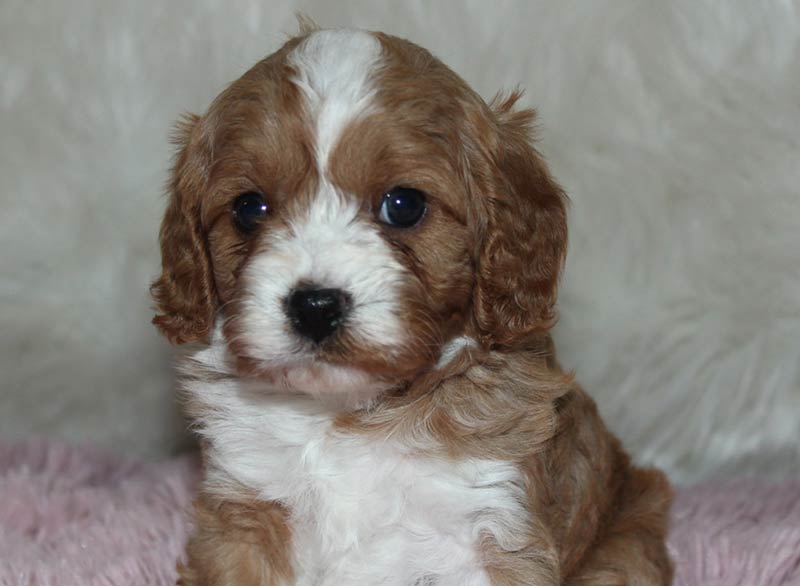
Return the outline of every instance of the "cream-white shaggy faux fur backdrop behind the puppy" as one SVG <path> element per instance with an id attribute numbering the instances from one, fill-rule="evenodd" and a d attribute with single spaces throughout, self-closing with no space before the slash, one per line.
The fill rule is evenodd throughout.
<path id="1" fill-rule="evenodd" d="M 297 9 L 527 88 L 573 202 L 561 359 L 640 460 L 800 471 L 793 2 L 4 0 L 0 434 L 181 445 L 147 294 L 167 137 Z"/>

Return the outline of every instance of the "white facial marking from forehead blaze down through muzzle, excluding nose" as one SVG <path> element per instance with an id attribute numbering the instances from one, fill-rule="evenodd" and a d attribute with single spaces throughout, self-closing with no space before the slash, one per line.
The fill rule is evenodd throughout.
<path id="1" fill-rule="evenodd" d="M 314 348 L 288 323 L 284 302 L 302 281 L 347 293 L 352 308 L 350 335 L 389 357 L 405 333 L 398 300 L 406 271 L 360 206 L 326 176 L 327 159 L 346 125 L 370 111 L 374 88 L 370 75 L 379 67 L 381 46 L 368 33 L 331 30 L 312 33 L 289 55 L 293 83 L 303 93 L 314 121 L 314 142 L 321 179 L 308 209 L 296 211 L 285 230 L 266 234 L 264 252 L 248 265 L 243 279 L 243 339 L 265 368 L 283 369 L 283 385 L 346 404 L 363 402 L 385 390 L 363 372 L 313 364 Z"/>

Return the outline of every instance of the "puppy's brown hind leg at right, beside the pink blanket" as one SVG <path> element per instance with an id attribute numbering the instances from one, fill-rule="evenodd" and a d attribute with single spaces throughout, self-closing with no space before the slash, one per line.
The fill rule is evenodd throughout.
<path id="1" fill-rule="evenodd" d="M 669 586 L 665 546 L 672 489 L 657 470 L 634 468 L 611 526 L 570 576 L 568 586 Z"/>

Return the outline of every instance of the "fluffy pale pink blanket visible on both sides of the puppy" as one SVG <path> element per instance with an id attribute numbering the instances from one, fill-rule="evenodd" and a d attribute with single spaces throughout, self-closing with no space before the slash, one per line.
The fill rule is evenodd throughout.
<path id="1" fill-rule="evenodd" d="M 0 585 L 174 584 L 197 480 L 188 457 L 0 444 Z M 676 585 L 800 585 L 800 479 L 680 491 L 670 548 Z"/>

